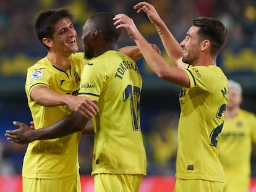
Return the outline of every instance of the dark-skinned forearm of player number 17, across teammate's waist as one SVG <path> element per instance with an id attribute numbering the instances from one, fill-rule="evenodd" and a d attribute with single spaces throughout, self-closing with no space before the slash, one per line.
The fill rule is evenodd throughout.
<path id="1" fill-rule="evenodd" d="M 87 121 L 88 119 L 80 115 L 79 112 L 73 112 L 53 125 L 32 131 L 32 135 L 30 137 L 32 138 L 32 141 L 34 141 L 48 140 L 70 135 L 72 133 L 82 131 Z"/>

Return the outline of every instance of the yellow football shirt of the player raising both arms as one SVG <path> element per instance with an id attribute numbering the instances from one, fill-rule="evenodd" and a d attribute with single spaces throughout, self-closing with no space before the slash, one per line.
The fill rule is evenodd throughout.
<path id="1" fill-rule="evenodd" d="M 214 65 L 188 65 L 184 70 L 190 88 L 182 88 L 179 94 L 176 177 L 224 182 L 216 145 L 228 102 L 228 80 Z"/>

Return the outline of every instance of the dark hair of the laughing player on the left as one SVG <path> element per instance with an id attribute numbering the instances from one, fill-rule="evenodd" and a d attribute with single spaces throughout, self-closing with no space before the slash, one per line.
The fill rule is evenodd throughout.
<path id="1" fill-rule="evenodd" d="M 59 9 L 40 12 L 36 18 L 34 27 L 35 35 L 38 40 L 43 43 L 43 38 L 53 38 L 54 25 L 64 18 L 68 18 L 71 22 L 74 21 L 74 15 L 69 7 L 61 7 Z"/>

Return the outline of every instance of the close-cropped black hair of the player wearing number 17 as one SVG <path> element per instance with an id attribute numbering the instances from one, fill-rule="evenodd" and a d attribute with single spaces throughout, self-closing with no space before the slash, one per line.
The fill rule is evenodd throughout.
<path id="1" fill-rule="evenodd" d="M 114 25 L 114 15 L 109 12 L 98 12 L 90 17 L 91 28 L 95 28 L 104 35 L 106 41 L 117 42 L 121 29 L 116 28 Z"/>

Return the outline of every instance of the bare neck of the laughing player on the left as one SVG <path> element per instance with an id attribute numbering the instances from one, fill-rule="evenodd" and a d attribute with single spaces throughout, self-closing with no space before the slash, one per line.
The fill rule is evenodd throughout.
<path id="1" fill-rule="evenodd" d="M 51 64 L 54 65 L 54 67 L 57 67 L 58 69 L 61 69 L 64 71 L 69 70 L 70 55 L 63 56 L 62 54 L 48 52 L 46 58 L 51 62 Z"/>

